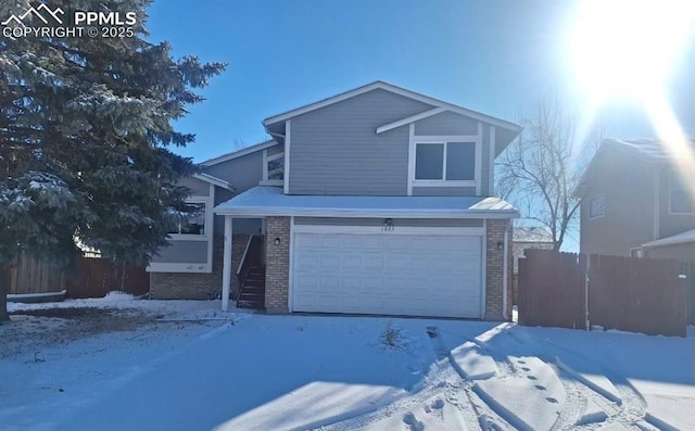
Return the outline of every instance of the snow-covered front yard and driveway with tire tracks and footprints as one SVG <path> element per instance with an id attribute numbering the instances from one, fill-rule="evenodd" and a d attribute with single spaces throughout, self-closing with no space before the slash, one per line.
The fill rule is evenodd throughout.
<path id="1" fill-rule="evenodd" d="M 0 429 L 695 429 L 692 338 L 218 306 L 11 304 Z"/>

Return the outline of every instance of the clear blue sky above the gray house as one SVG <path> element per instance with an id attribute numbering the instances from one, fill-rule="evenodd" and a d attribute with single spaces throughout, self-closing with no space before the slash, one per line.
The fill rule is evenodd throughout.
<path id="1" fill-rule="evenodd" d="M 207 100 L 178 124 L 197 142 L 176 151 L 202 162 L 265 139 L 263 118 L 374 80 L 510 121 L 548 94 L 582 112 L 569 50 L 577 8 L 540 0 L 160 0 L 148 29 L 151 40 L 172 42 L 176 56 L 229 63 L 203 91 Z M 669 91 L 693 135 L 686 60 Z M 607 137 L 654 136 L 632 101 L 612 102 L 602 121 Z"/>

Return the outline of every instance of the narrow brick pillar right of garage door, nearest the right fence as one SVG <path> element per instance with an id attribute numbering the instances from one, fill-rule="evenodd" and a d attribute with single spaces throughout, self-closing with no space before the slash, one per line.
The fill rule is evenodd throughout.
<path id="1" fill-rule="evenodd" d="M 511 254 L 511 220 L 488 220 L 485 263 L 485 320 L 502 320 L 503 309 L 503 259 L 504 248 L 497 250 L 497 243 L 504 243 L 504 230 L 509 226 L 507 243 L 507 320 L 511 320 L 514 257 Z"/>

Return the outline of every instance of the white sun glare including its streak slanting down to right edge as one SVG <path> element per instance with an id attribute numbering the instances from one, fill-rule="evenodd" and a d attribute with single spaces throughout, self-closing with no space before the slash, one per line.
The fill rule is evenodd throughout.
<path id="1" fill-rule="evenodd" d="M 592 104 L 590 111 L 612 98 L 642 103 L 693 201 L 695 151 L 665 87 L 681 50 L 693 42 L 694 28 L 693 0 L 584 0 L 571 45 L 574 71 Z"/>

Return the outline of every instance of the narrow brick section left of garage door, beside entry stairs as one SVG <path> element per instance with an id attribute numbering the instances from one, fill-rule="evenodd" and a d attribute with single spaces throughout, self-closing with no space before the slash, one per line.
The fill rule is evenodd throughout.
<path id="1" fill-rule="evenodd" d="M 289 312 L 290 217 L 266 218 L 265 308 Z M 276 245 L 275 239 L 280 243 Z"/>

